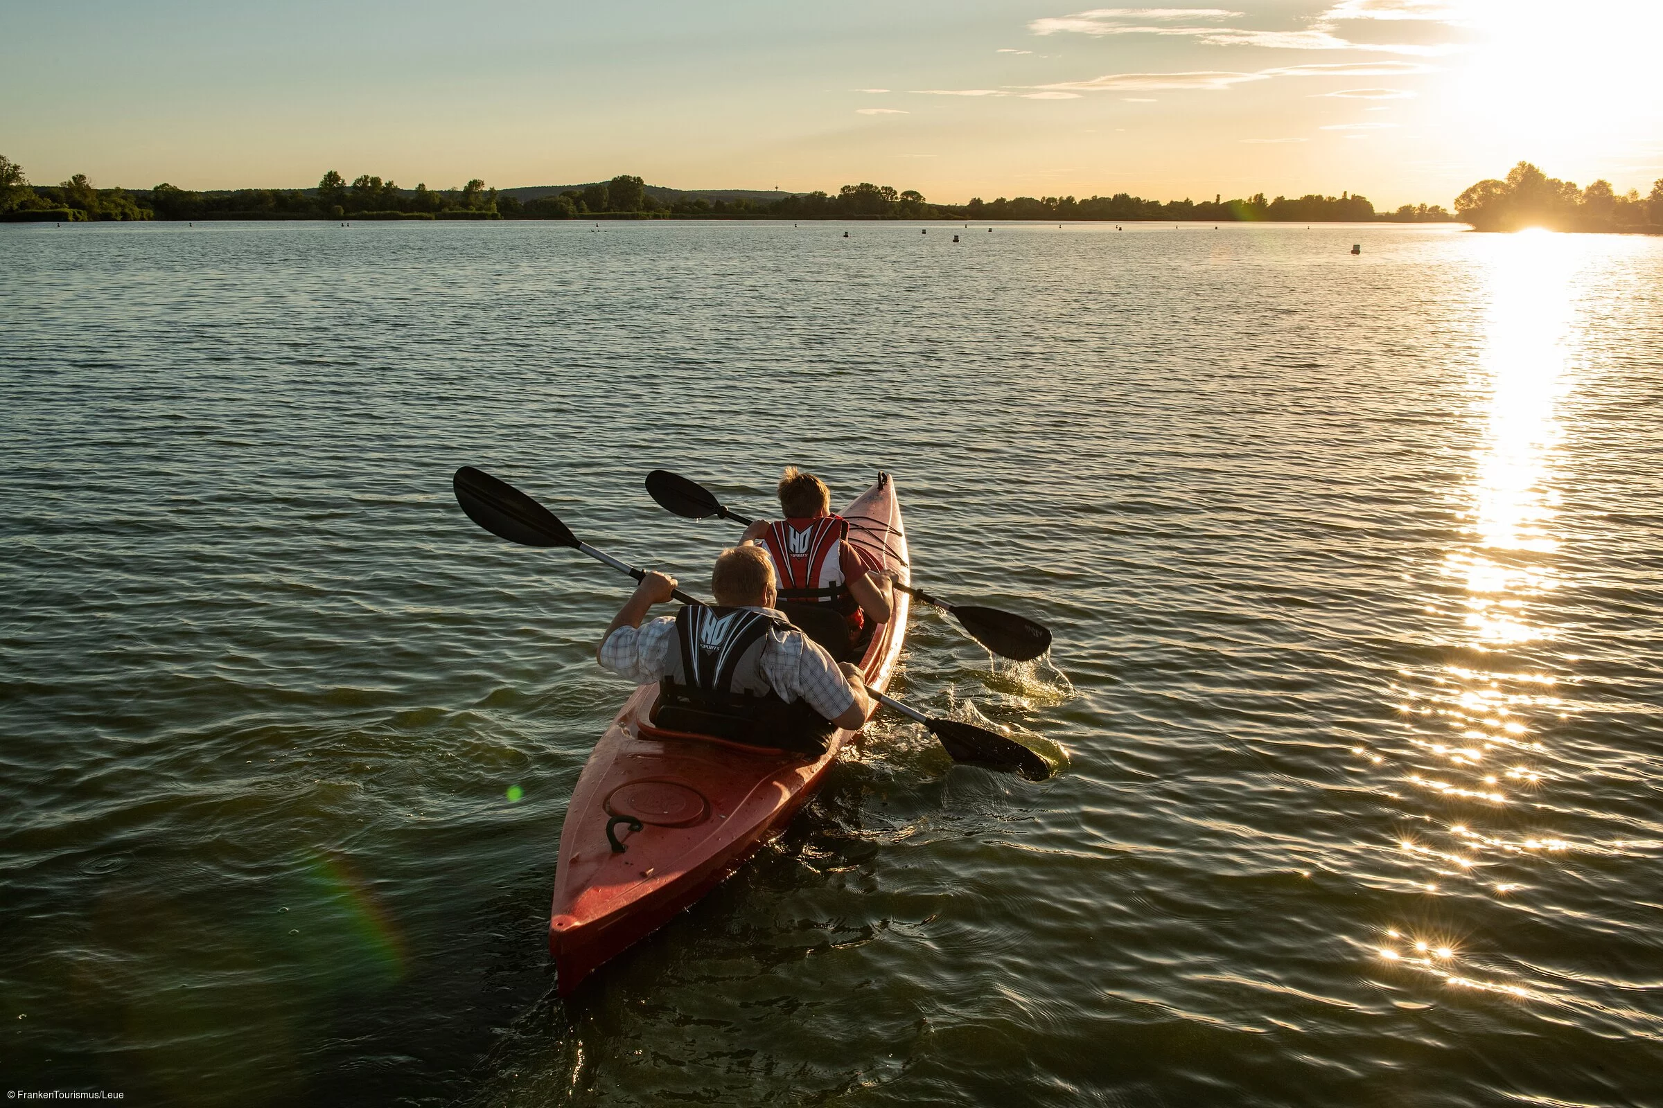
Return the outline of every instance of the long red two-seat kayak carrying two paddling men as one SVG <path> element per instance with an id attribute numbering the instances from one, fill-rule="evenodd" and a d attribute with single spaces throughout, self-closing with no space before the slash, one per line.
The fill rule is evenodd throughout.
<path id="1" fill-rule="evenodd" d="M 848 540 L 910 583 L 895 482 L 878 482 L 843 510 Z M 866 684 L 886 689 L 906 640 L 908 598 L 861 658 Z M 607 958 L 662 927 L 780 834 L 815 794 L 853 731 L 817 759 L 757 751 L 647 723 L 659 694 L 644 684 L 600 736 L 560 829 L 549 952 L 560 995 Z M 615 849 L 622 847 L 622 849 Z"/>

